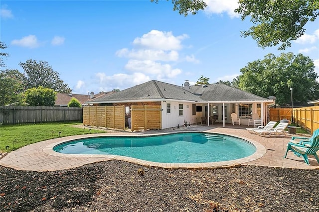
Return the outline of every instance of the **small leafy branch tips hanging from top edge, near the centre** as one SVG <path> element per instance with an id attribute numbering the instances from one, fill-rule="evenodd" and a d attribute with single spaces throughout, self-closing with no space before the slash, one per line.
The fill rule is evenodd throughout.
<path id="1" fill-rule="evenodd" d="M 151 1 L 155 3 L 159 2 L 159 0 Z M 171 0 L 171 2 L 174 5 L 173 10 L 178 10 L 178 13 L 184 16 L 187 16 L 189 12 L 194 15 L 198 10 L 203 10 L 207 6 L 203 0 Z"/>

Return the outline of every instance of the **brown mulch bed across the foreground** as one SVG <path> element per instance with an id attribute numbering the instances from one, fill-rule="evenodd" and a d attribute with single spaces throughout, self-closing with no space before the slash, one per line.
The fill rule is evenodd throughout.
<path id="1" fill-rule="evenodd" d="M 116 160 L 52 172 L 0 167 L 0 211 L 317 212 L 318 179 L 319 170 L 167 170 Z"/>

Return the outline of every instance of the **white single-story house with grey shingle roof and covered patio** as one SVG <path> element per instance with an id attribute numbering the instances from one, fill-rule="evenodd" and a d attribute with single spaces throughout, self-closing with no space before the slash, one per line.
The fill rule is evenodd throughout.
<path id="1" fill-rule="evenodd" d="M 275 98 L 274 98 L 275 99 Z M 252 114 L 258 113 L 263 124 L 267 122 L 268 108 L 275 105 L 274 99 L 250 94 L 221 83 L 190 86 L 185 81 L 183 86 L 176 86 L 152 80 L 112 95 L 86 102 L 93 106 L 124 105 L 127 117 L 133 105 L 161 106 L 161 128 L 170 128 L 202 122 L 207 125 L 214 122 L 232 123 L 231 113 L 241 118 L 241 124 L 247 125 Z M 205 124 L 206 124 L 205 123 Z"/>

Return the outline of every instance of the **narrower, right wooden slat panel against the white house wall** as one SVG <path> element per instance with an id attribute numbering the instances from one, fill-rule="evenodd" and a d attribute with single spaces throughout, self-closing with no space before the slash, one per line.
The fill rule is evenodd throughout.
<path id="1" fill-rule="evenodd" d="M 161 106 L 133 105 L 131 114 L 132 131 L 161 129 Z"/>

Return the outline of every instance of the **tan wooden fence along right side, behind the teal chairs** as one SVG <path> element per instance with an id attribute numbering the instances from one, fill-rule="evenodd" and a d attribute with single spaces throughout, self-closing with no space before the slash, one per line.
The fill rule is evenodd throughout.
<path id="1" fill-rule="evenodd" d="M 319 106 L 294 108 L 293 115 L 293 122 L 310 131 L 311 134 L 319 128 Z"/>

